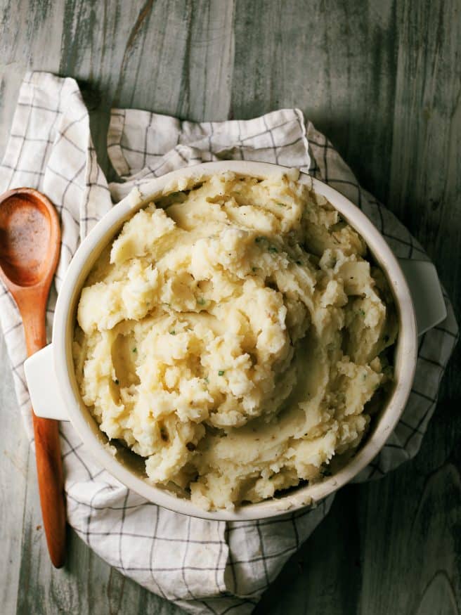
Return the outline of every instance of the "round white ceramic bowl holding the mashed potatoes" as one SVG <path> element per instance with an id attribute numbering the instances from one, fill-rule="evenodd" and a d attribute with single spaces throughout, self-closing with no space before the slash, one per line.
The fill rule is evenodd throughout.
<path id="1" fill-rule="evenodd" d="M 72 361 L 72 337 L 80 290 L 101 250 L 119 231 L 126 219 L 143 205 L 154 200 L 172 181 L 185 176 L 203 177 L 220 171 L 235 171 L 243 176 L 264 178 L 280 170 L 286 169 L 259 162 L 207 162 L 173 171 L 145 183 L 139 190 L 130 193 L 100 220 L 80 245 L 67 270 L 58 297 L 52 344 L 29 358 L 25 364 L 32 406 L 37 415 L 70 420 L 86 449 L 99 465 L 105 467 L 110 474 L 141 496 L 176 512 L 206 519 L 232 521 L 262 519 L 281 514 L 283 510 L 296 510 L 324 498 L 353 479 L 377 455 L 394 429 L 410 394 L 417 358 L 417 324 L 410 290 L 401 266 L 382 235 L 358 207 L 325 183 L 307 174 L 301 174 L 299 181 L 311 186 L 316 193 L 324 195 L 365 239 L 377 263 L 387 275 L 398 310 L 400 331 L 395 350 L 394 390 L 387 405 L 375 417 L 372 429 L 365 436 L 357 453 L 341 470 L 319 483 L 299 487 L 280 498 L 243 505 L 235 512 L 223 510 L 205 512 L 193 506 L 187 499 L 178 498 L 164 488 L 148 484 L 140 470 L 120 460 L 118 454 L 114 457 L 110 452 L 106 436 L 100 432 L 96 421 L 81 399 Z M 442 318 L 443 314 L 439 309 L 439 315 L 433 318 L 431 324 Z"/>

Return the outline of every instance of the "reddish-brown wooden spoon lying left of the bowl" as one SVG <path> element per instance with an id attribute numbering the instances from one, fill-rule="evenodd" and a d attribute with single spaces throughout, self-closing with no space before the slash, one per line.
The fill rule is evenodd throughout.
<path id="1" fill-rule="evenodd" d="M 56 209 L 32 188 L 0 197 L 0 277 L 18 305 L 27 356 L 46 345 L 46 300 L 58 264 L 60 227 Z M 65 503 L 58 421 L 34 415 L 35 456 L 41 514 L 51 562 L 65 558 Z"/>

